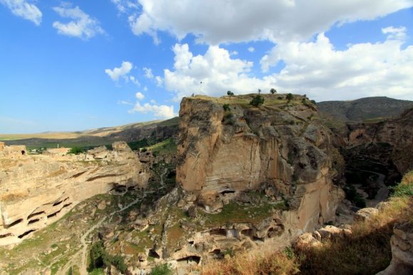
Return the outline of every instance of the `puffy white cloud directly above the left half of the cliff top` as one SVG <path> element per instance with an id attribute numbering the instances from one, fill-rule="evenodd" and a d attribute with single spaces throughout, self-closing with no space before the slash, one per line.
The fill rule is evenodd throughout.
<path id="1" fill-rule="evenodd" d="M 262 79 L 249 75 L 252 62 L 231 58 L 228 50 L 210 46 L 204 55 L 194 56 L 187 44 L 173 48 L 174 70 L 164 70 L 164 87 L 175 93 L 176 100 L 195 94 L 223 95 L 269 90 L 275 85 L 273 75 Z"/>

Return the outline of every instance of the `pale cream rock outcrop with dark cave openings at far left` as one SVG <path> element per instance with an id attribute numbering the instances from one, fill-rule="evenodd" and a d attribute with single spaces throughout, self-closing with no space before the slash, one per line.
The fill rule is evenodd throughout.
<path id="1" fill-rule="evenodd" d="M 0 245 L 13 244 L 110 190 L 144 187 L 149 173 L 125 142 L 87 154 L 0 159 Z"/>

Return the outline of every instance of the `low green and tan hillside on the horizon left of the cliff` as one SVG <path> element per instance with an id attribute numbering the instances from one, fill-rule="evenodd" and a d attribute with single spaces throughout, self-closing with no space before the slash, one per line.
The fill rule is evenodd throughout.
<path id="1" fill-rule="evenodd" d="M 88 147 L 108 145 L 114 141 L 160 141 L 177 134 L 179 118 L 164 121 L 141 122 L 122 126 L 103 127 L 74 132 L 46 132 L 41 134 L 0 134 L 0 141 L 7 145 L 23 144 L 29 149 L 65 147 Z"/>

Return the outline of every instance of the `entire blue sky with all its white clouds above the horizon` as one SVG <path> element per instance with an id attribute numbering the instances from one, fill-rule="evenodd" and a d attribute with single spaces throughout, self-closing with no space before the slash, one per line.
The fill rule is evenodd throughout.
<path id="1" fill-rule="evenodd" d="M 413 100 L 412 0 L 308 2 L 0 0 L 0 133 L 167 119 L 227 90 Z"/>

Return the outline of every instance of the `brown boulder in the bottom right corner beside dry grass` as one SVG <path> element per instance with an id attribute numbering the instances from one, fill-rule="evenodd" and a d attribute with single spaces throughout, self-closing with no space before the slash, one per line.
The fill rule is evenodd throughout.
<path id="1" fill-rule="evenodd" d="M 378 275 L 408 275 L 413 274 L 413 226 L 411 222 L 394 225 L 392 246 L 392 261 L 387 269 Z"/>

